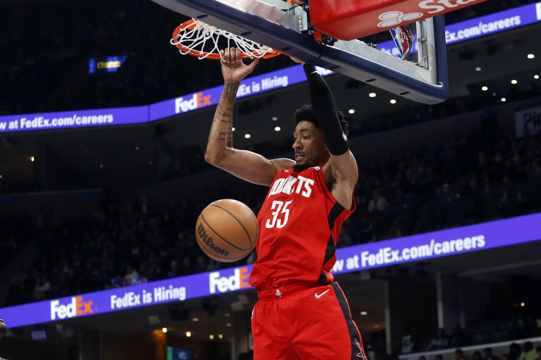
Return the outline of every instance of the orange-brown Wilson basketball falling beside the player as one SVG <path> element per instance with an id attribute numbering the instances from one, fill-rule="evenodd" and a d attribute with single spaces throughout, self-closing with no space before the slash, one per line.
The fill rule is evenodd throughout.
<path id="1" fill-rule="evenodd" d="M 222 199 L 201 211 L 195 225 L 201 250 L 210 258 L 230 263 L 246 257 L 259 236 L 258 221 L 247 205 Z"/>

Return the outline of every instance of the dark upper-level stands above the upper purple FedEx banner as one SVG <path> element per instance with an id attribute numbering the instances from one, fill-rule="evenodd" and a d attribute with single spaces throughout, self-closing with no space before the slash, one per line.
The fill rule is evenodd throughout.
<path id="1" fill-rule="evenodd" d="M 446 14 L 446 22 L 531 2 L 480 3 Z M 203 65 L 169 44 L 186 19 L 147 0 L 2 6 L 0 115 L 144 105 L 220 85 L 219 64 Z M 91 57 L 120 55 L 128 58 L 118 72 L 89 74 Z M 261 62 L 254 75 L 291 65 L 278 56 Z"/>

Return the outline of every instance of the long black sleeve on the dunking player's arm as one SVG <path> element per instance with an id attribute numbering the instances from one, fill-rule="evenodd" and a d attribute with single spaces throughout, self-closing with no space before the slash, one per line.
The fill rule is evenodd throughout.
<path id="1" fill-rule="evenodd" d="M 310 100 L 315 116 L 325 136 L 327 149 L 332 155 L 345 154 L 349 150 L 346 134 L 340 126 L 337 105 L 325 80 L 315 70 L 315 66 L 304 64 L 308 86 L 310 88 Z"/>

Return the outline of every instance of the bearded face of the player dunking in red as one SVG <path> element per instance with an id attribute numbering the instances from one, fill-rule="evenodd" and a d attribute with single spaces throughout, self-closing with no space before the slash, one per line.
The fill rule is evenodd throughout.
<path id="1" fill-rule="evenodd" d="M 293 150 L 297 168 L 323 165 L 329 159 L 323 132 L 309 121 L 301 121 L 293 132 Z"/>

